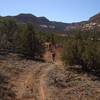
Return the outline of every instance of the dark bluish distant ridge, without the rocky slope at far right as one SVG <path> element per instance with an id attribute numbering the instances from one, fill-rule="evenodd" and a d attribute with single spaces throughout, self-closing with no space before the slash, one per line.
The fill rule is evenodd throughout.
<path id="1" fill-rule="evenodd" d="M 65 33 L 66 27 L 75 26 L 75 24 L 50 21 L 46 17 L 36 17 L 32 14 L 19 14 L 17 16 L 5 16 L 2 18 L 15 19 L 17 23 L 32 23 L 36 28 L 42 31 Z M 77 23 L 79 24 L 79 23 Z"/>

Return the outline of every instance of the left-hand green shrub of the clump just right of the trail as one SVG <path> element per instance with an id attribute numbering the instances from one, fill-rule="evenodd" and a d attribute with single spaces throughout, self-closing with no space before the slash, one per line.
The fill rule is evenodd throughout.
<path id="1" fill-rule="evenodd" d="M 64 44 L 62 59 L 65 64 L 76 65 L 81 64 L 81 53 L 83 52 L 83 44 L 80 40 L 69 39 Z"/>

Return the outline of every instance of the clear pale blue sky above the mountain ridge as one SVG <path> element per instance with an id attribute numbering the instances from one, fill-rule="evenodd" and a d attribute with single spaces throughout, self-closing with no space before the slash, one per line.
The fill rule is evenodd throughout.
<path id="1" fill-rule="evenodd" d="M 0 15 L 32 13 L 67 23 L 88 20 L 100 12 L 100 0 L 0 0 Z"/>

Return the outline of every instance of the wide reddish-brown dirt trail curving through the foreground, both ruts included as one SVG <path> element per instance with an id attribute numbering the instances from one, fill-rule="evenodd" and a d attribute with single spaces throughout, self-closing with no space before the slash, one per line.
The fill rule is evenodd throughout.
<path id="1" fill-rule="evenodd" d="M 28 66 L 17 80 L 13 81 L 19 100 L 46 100 L 44 76 L 54 64 L 36 63 Z"/>

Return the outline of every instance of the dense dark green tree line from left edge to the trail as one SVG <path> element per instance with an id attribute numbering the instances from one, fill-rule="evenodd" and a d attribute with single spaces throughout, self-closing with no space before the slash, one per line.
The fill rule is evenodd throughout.
<path id="1" fill-rule="evenodd" d="M 45 50 L 31 23 L 19 24 L 12 19 L 0 20 L 0 49 L 32 58 L 42 56 Z"/>

